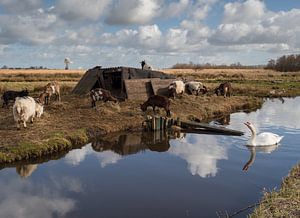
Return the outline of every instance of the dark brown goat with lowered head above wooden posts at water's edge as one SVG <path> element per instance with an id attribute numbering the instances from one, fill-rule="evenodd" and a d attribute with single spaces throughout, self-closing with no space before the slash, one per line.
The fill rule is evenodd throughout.
<path id="1" fill-rule="evenodd" d="M 148 98 L 147 101 L 145 101 L 140 106 L 142 111 L 146 111 L 148 106 L 151 106 L 154 112 L 155 112 L 155 107 L 164 108 L 167 113 L 167 116 L 171 116 L 170 103 L 171 103 L 170 100 L 165 96 L 152 95 Z"/>

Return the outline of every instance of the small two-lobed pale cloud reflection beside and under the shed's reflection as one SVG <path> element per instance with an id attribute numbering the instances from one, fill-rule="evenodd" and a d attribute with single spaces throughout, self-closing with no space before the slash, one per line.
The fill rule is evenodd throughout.
<path id="1" fill-rule="evenodd" d="M 78 165 L 82 161 L 85 160 L 87 155 L 94 155 L 100 162 L 101 167 L 106 167 L 109 164 L 115 164 L 122 156 L 113 152 L 113 151 L 103 151 L 103 152 L 95 152 L 91 146 L 91 144 L 87 144 L 86 146 L 82 147 L 81 149 L 74 149 L 70 151 L 65 160 L 70 165 Z"/>

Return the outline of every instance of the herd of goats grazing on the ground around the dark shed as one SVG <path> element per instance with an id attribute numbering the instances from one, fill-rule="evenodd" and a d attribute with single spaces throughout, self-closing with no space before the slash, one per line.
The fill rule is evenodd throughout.
<path id="1" fill-rule="evenodd" d="M 220 84 L 215 89 L 216 95 L 223 95 L 224 97 L 231 95 L 231 84 L 225 82 Z M 178 95 L 182 95 L 184 92 L 193 95 L 205 94 L 208 92 L 206 86 L 201 82 L 189 81 L 184 82 L 181 80 L 173 81 L 168 87 L 168 97 L 175 98 Z M 33 122 L 35 117 L 41 117 L 44 111 L 44 105 L 50 103 L 51 96 L 55 96 L 57 101 L 60 101 L 60 86 L 57 82 L 48 83 L 43 92 L 37 97 L 32 98 L 29 96 L 27 89 L 22 91 L 5 91 L 2 95 L 3 105 L 2 107 L 8 107 L 9 102 L 14 102 L 13 116 L 17 124 L 17 128 L 21 128 L 21 124 L 26 128 L 26 122 L 30 120 Z M 92 108 L 96 107 L 97 101 L 113 101 L 118 102 L 118 99 L 112 96 L 109 90 L 102 88 L 96 88 L 89 93 Z M 142 111 L 146 111 L 147 107 L 151 106 L 153 111 L 155 107 L 164 108 L 167 116 L 171 115 L 170 112 L 170 100 L 168 97 L 161 95 L 150 96 L 143 104 L 140 105 Z"/>

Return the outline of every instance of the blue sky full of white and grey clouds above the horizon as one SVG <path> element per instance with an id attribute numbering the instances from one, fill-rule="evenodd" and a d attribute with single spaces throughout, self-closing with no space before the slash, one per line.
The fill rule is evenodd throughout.
<path id="1" fill-rule="evenodd" d="M 299 39 L 300 0 L 0 0 L 0 68 L 261 65 Z"/>

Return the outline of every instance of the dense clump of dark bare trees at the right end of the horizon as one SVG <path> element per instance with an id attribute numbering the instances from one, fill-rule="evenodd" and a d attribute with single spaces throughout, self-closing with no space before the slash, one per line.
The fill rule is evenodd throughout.
<path id="1" fill-rule="evenodd" d="M 283 55 L 275 61 L 269 60 L 265 69 L 272 69 L 281 72 L 296 72 L 300 71 L 300 54 Z"/>

